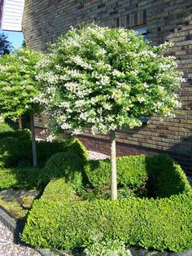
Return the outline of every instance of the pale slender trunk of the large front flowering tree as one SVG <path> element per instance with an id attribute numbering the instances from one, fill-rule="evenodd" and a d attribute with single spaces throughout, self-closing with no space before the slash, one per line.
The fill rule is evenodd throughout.
<path id="1" fill-rule="evenodd" d="M 116 133 L 111 130 L 111 200 L 117 199 L 117 181 L 116 181 Z"/>

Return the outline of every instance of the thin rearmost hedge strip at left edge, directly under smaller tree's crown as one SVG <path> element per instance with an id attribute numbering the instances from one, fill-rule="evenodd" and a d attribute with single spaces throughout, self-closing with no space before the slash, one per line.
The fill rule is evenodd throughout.
<path id="1" fill-rule="evenodd" d="M 7 137 L 11 138 L 20 138 L 20 139 L 31 139 L 31 132 L 28 129 L 24 130 L 6 130 L 0 132 L 0 139 L 4 139 Z"/>

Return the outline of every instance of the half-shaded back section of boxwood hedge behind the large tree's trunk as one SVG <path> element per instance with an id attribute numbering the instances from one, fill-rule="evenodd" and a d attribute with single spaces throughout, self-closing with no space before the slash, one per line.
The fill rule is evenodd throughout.
<path id="1" fill-rule="evenodd" d="M 89 161 L 85 174 L 93 188 L 110 187 L 110 160 Z M 136 190 L 139 196 L 168 197 L 190 191 L 181 166 L 171 157 L 117 157 L 118 187 Z"/>

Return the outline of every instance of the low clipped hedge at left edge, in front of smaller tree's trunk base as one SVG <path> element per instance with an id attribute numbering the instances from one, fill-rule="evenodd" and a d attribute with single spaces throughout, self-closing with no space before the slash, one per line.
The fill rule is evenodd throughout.
<path id="1" fill-rule="evenodd" d="M 0 169 L 0 190 L 37 188 L 41 170 L 33 167 Z"/>

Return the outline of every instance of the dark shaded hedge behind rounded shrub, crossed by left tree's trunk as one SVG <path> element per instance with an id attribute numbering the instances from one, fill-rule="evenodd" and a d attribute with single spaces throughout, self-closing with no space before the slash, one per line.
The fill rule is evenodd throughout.
<path id="1" fill-rule="evenodd" d="M 24 163 L 32 163 L 32 146 L 28 130 L 23 132 L 3 133 L 4 138 L 0 139 L 0 161 L 6 167 L 17 166 Z M 9 137 L 9 135 L 11 137 Z M 30 134 L 29 134 L 30 135 Z M 44 166 L 46 161 L 56 152 L 70 151 L 76 153 L 84 161 L 88 159 L 88 153 L 84 145 L 78 139 L 63 139 L 62 141 L 37 142 L 37 161 Z"/>

